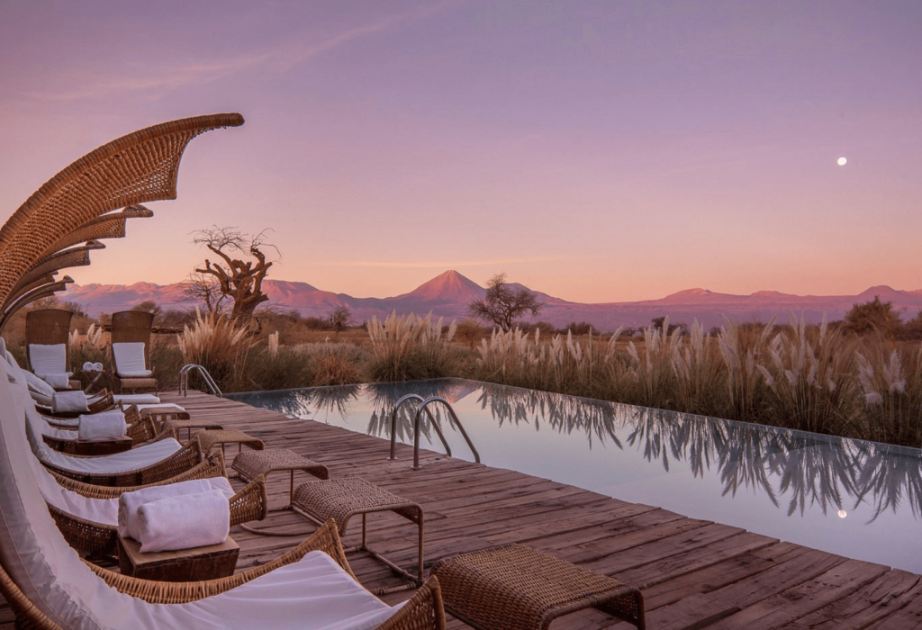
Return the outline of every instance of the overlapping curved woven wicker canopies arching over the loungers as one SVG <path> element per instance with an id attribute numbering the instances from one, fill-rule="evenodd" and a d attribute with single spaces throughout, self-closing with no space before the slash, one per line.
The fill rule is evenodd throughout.
<path id="1" fill-rule="evenodd" d="M 64 262 L 81 263 L 75 253 L 46 266 L 58 252 L 80 242 L 122 237 L 127 218 L 152 215 L 136 204 L 175 199 L 179 163 L 196 135 L 242 124 L 238 113 L 164 122 L 100 146 L 46 182 L 0 228 L 0 327 L 17 309 L 73 282 L 65 277 L 35 286 L 36 277 L 74 266 Z M 89 249 L 94 247 L 88 243 L 84 253 Z M 64 255 L 71 256 L 69 251 Z"/>

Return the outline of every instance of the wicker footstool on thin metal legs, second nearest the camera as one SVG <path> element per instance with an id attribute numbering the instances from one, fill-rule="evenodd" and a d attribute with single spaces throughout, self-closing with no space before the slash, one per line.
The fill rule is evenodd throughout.
<path id="1" fill-rule="evenodd" d="M 317 525 L 322 525 L 328 519 L 335 519 L 340 536 L 345 534 L 349 519 L 356 514 L 361 514 L 361 544 L 346 551 L 365 552 L 385 566 L 389 566 L 397 575 L 411 582 L 411 584 L 403 587 L 376 589 L 372 591 L 375 595 L 414 589 L 422 584 L 422 539 L 424 528 L 420 504 L 391 494 L 359 477 L 341 477 L 339 479 L 308 482 L 299 485 L 295 488 L 291 508 Z M 415 576 L 406 569 L 396 566 L 382 554 L 368 546 L 368 514 L 386 511 L 395 512 L 403 518 L 416 523 L 420 528 L 419 561 Z"/>

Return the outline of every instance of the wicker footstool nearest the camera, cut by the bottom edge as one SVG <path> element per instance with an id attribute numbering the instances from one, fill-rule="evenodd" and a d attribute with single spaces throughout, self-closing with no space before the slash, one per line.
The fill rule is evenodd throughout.
<path id="1" fill-rule="evenodd" d="M 640 589 L 521 544 L 444 558 L 432 566 L 445 610 L 484 630 L 538 630 L 597 608 L 646 627 Z"/>

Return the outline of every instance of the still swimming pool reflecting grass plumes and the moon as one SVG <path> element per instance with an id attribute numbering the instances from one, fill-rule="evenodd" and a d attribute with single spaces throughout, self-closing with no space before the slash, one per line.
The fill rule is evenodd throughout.
<path id="1" fill-rule="evenodd" d="M 406 393 L 449 400 L 487 465 L 922 573 L 919 449 L 463 379 L 228 397 L 389 438 Z M 445 414 L 432 411 L 453 455 L 473 461 Z M 412 419 L 405 405 L 396 431 L 404 443 Z M 420 444 L 443 452 L 422 429 Z"/>

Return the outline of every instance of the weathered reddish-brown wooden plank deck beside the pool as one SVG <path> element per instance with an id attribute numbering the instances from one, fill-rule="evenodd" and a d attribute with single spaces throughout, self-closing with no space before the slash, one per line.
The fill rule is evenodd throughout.
<path id="1" fill-rule="evenodd" d="M 649 628 L 922 628 L 922 577 L 905 571 L 438 453 L 424 452 L 422 470 L 412 471 L 411 448 L 400 447 L 399 459 L 388 461 L 389 444 L 377 437 L 198 392 L 161 398 L 183 404 L 195 418 L 261 437 L 266 448 L 293 449 L 324 463 L 333 477 L 361 476 L 419 502 L 427 566 L 446 555 L 521 542 L 640 586 Z M 235 451 L 228 450 L 229 461 Z M 301 474 L 296 483 L 308 480 Z M 268 486 L 270 506 L 287 502 L 288 473 L 270 476 Z M 290 535 L 232 529 L 242 548 L 238 570 L 276 557 L 313 529 L 290 512 L 270 513 L 255 526 Z M 345 542 L 357 541 L 360 531 L 361 523 L 352 522 Z M 372 515 L 369 541 L 401 566 L 415 561 L 416 527 L 404 519 Z M 350 555 L 349 562 L 368 587 L 399 584 L 361 554 Z M 4 605 L 0 625 L 11 627 L 10 621 Z M 595 611 L 552 627 L 612 626 L 631 627 Z M 467 626 L 451 620 L 449 627 Z"/>

